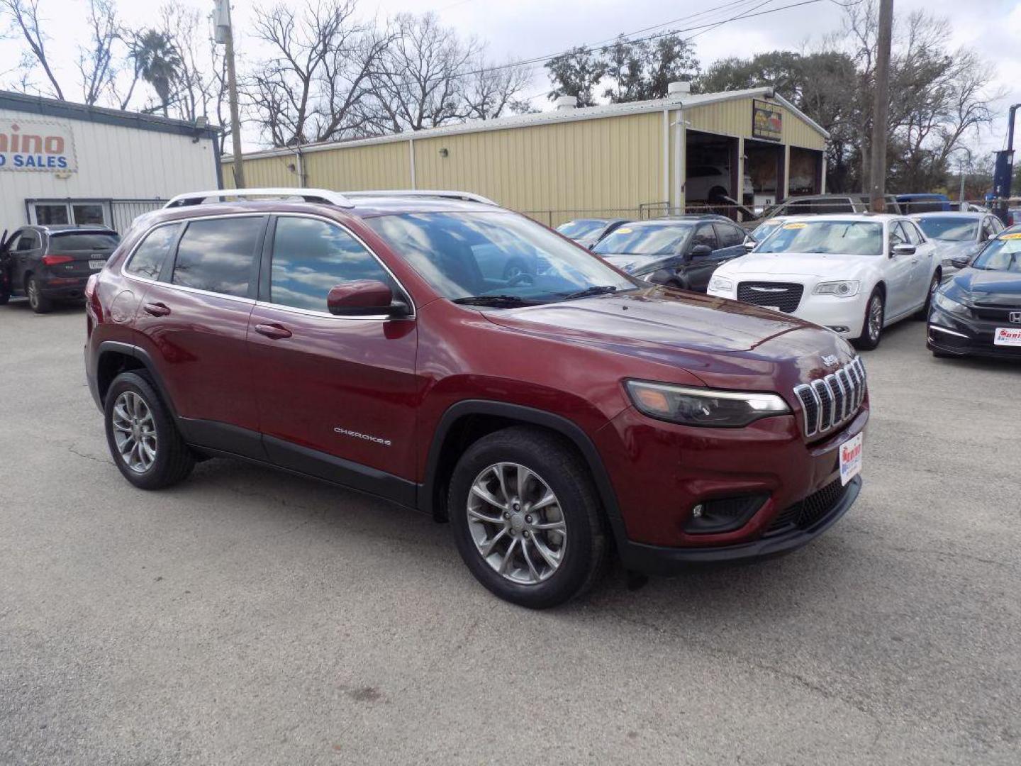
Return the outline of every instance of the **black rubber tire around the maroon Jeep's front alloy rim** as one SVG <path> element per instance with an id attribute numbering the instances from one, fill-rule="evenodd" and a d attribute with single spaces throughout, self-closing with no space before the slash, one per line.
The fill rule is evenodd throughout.
<path id="1" fill-rule="evenodd" d="M 496 438 L 501 434 L 510 438 Z M 563 604 L 585 588 L 594 566 L 593 560 L 602 556 L 604 540 L 592 490 L 590 484 L 586 484 L 587 477 L 575 471 L 562 470 L 566 456 L 563 452 L 550 454 L 558 444 L 554 442 L 552 450 L 549 444 L 529 445 L 527 438 L 520 438 L 527 431 L 507 429 L 469 447 L 450 480 L 447 513 L 461 559 L 485 587 L 514 604 L 544 609 Z M 501 462 L 526 466 L 546 482 L 560 500 L 567 522 L 568 545 L 555 574 L 544 582 L 524 585 L 502 577 L 482 558 L 469 530 L 466 509 L 472 483 L 483 469 Z"/>

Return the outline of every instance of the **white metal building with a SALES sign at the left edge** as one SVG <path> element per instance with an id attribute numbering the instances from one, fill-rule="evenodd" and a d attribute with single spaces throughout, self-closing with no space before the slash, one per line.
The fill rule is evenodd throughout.
<path id="1" fill-rule="evenodd" d="M 0 232 L 102 224 L 123 232 L 175 194 L 220 187 L 215 130 L 0 91 Z"/>

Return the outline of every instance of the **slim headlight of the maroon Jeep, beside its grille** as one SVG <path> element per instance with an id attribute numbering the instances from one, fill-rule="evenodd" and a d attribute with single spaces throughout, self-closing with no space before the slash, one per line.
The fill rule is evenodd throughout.
<path id="1" fill-rule="evenodd" d="M 790 412 L 787 402 L 775 393 L 720 391 L 641 380 L 627 381 L 627 388 L 640 413 L 685 426 L 740 428 L 761 418 Z"/>

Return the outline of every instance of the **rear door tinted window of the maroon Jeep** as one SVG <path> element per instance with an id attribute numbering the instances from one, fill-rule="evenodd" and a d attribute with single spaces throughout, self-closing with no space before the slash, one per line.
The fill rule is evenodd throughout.
<path id="1" fill-rule="evenodd" d="M 173 282 L 183 287 L 248 294 L 261 218 L 193 221 L 178 245 Z"/>

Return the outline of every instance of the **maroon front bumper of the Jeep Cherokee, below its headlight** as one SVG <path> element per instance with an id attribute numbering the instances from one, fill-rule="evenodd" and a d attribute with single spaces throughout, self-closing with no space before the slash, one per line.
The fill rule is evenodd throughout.
<path id="1" fill-rule="evenodd" d="M 805 544 L 823 530 L 824 519 L 835 521 L 842 515 L 846 507 L 831 514 L 817 504 L 810 518 L 799 520 L 797 530 L 776 526 L 798 504 L 840 487 L 840 447 L 865 431 L 868 396 L 850 420 L 822 439 L 806 440 L 800 418 L 795 409 L 792 415 L 765 418 L 744 428 L 696 428 L 651 421 L 628 408 L 596 432 L 595 446 L 609 469 L 619 509 L 619 523 L 612 521 L 628 567 L 660 571 L 657 561 L 663 558 L 768 556 Z M 847 506 L 852 495 L 857 496 L 857 489 L 845 498 Z M 709 509 L 715 502 L 752 496 L 761 505 L 749 516 L 734 518 L 740 526 L 694 529 L 696 506 L 709 504 Z M 828 506 L 835 499 L 829 494 L 825 501 Z"/>

